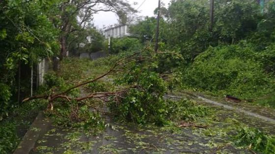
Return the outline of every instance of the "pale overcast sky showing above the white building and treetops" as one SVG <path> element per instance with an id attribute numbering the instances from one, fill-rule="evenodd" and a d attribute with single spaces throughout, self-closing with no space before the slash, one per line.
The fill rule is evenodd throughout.
<path id="1" fill-rule="evenodd" d="M 144 0 L 128 0 L 134 8 L 138 8 Z M 168 6 L 170 0 L 162 0 L 165 6 Z M 134 5 L 137 2 L 138 4 Z M 138 9 L 138 16 L 154 16 L 154 10 L 158 7 L 158 0 L 145 0 L 145 2 Z M 94 24 L 98 28 L 117 23 L 117 17 L 112 12 L 100 12 L 94 15 Z"/>

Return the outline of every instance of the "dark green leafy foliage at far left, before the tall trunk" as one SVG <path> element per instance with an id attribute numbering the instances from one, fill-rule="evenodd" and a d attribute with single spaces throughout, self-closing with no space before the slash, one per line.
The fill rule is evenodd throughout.
<path id="1" fill-rule="evenodd" d="M 59 50 L 58 30 L 46 15 L 48 10 L 44 9 L 55 1 L 40 2 L 36 0 L 0 2 L 0 89 L 3 89 L 0 92 L 2 97 L 0 120 L 10 109 L 18 105 L 15 103 L 18 91 L 16 88 L 18 79 L 15 77 L 20 63 L 20 66 L 35 65 L 39 58 L 50 57 Z M 23 71 L 25 70 L 22 69 Z M 21 93 L 24 93 L 28 87 L 22 83 Z"/>

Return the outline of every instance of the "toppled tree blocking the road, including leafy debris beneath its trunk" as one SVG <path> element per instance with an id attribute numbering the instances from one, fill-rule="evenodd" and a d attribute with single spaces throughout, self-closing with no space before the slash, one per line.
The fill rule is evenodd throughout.
<path id="1" fill-rule="evenodd" d="M 46 94 L 28 97 L 23 102 L 34 99 L 47 100 L 49 103 L 48 113 L 54 116 L 60 125 L 72 126 L 76 121 L 83 127 L 83 125 L 87 125 L 87 119 L 90 119 L 90 121 L 103 126 L 102 121 L 104 120 L 97 115 L 97 112 L 116 115 L 117 119 L 137 124 L 165 125 L 168 122 L 166 118 L 168 104 L 165 102 L 164 95 L 168 87 L 167 81 L 172 79 L 172 71 L 166 71 L 167 68 L 162 68 L 160 71 L 158 68 L 163 66 L 167 57 L 182 60 L 177 55 L 175 52 L 154 52 L 150 48 L 145 48 L 117 60 L 106 73 L 98 77 L 63 90 L 60 88 L 50 89 Z M 117 87 L 115 90 L 111 91 L 107 88 L 106 91 L 91 90 L 92 92 L 90 91 L 84 96 L 72 94 L 72 91 L 81 87 L 86 87 L 89 84 L 96 85 L 97 82 L 109 75 L 115 75 L 116 80 L 113 81 Z M 110 112 L 106 108 L 100 109 L 95 105 L 96 103 L 104 104 Z M 89 125 L 98 127 L 94 123 Z"/>

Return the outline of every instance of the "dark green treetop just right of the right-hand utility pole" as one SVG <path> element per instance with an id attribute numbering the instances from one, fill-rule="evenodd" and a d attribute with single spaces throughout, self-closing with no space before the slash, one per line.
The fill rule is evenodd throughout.
<path id="1" fill-rule="evenodd" d="M 213 32 L 219 41 L 234 43 L 256 31 L 261 16 L 260 6 L 251 0 L 216 3 Z"/>

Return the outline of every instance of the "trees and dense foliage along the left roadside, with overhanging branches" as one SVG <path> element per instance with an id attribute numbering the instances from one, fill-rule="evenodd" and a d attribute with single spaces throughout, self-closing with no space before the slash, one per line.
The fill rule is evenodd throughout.
<path id="1" fill-rule="evenodd" d="M 98 11 L 136 10 L 122 0 L 0 1 L 0 120 L 30 94 L 30 68 L 41 59 L 53 60 L 57 70 L 56 56 L 62 60 L 68 50 L 77 55 L 103 49 L 103 36 L 91 23 Z"/>

